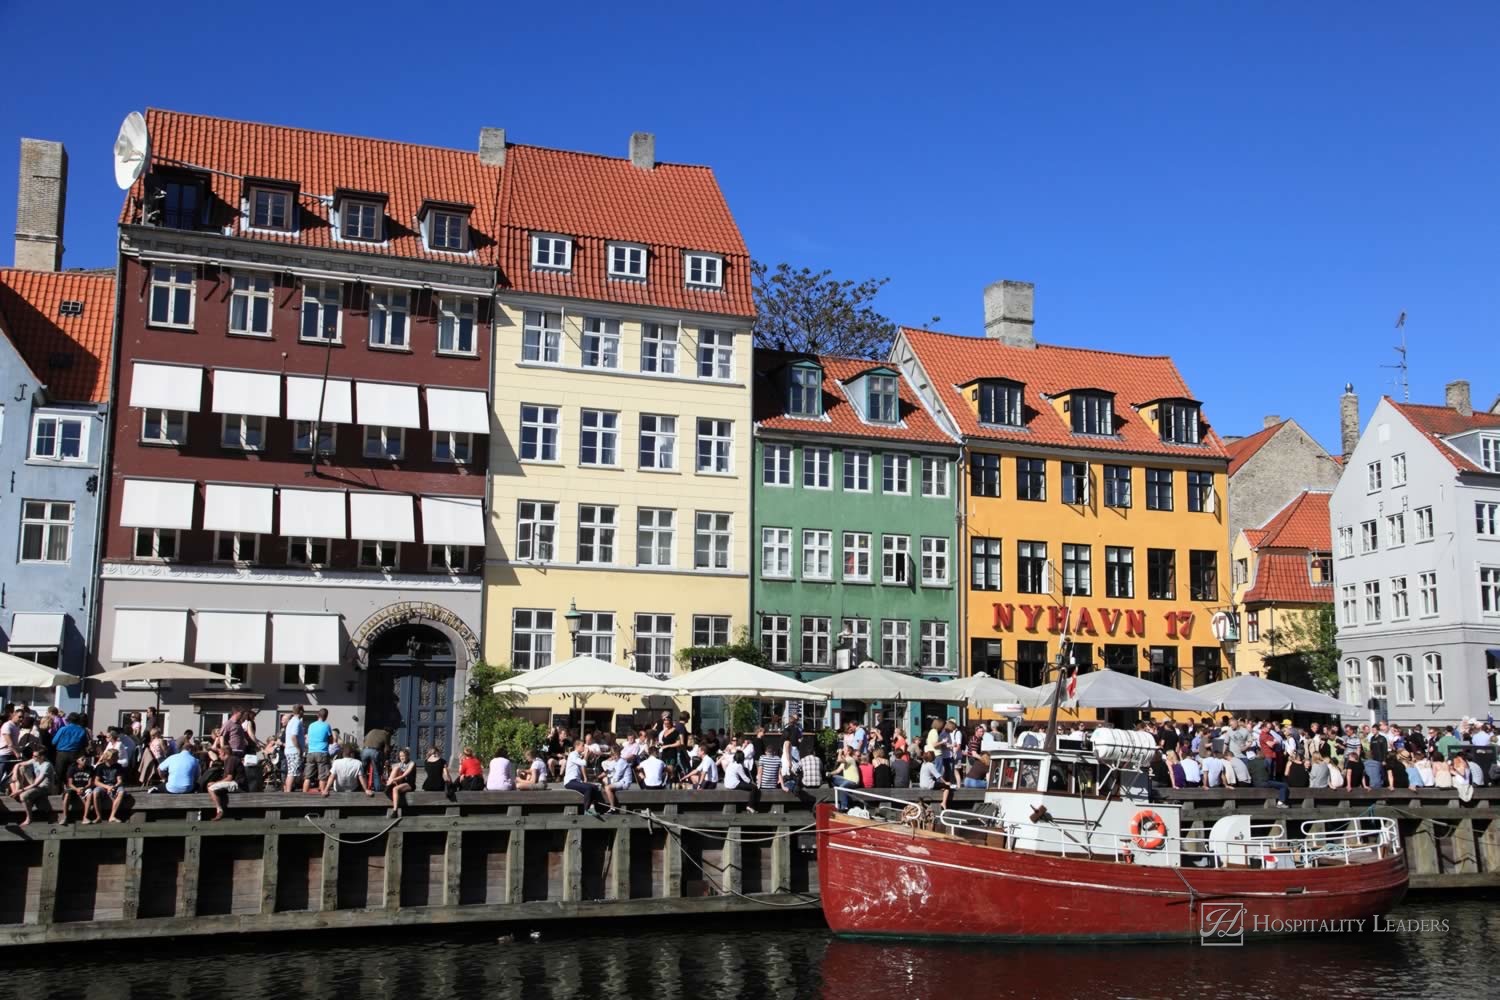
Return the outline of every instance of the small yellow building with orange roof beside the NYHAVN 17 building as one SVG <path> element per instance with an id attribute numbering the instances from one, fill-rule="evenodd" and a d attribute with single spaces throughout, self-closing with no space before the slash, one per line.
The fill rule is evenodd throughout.
<path id="1" fill-rule="evenodd" d="M 1232 580 L 1239 618 L 1234 672 L 1266 676 L 1268 660 L 1299 652 L 1299 621 L 1334 603 L 1329 493 L 1304 490 L 1260 528 L 1234 538 Z M 1300 684 L 1304 678 L 1278 678 Z"/>

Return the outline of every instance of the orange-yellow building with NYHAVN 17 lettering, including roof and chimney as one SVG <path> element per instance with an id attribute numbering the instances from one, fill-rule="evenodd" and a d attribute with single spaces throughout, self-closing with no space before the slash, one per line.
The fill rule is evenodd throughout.
<path id="1" fill-rule="evenodd" d="M 1032 286 L 986 289 L 987 336 L 903 330 L 892 358 L 964 442 L 966 673 L 1222 676 L 1224 447 L 1170 358 L 1054 348 Z"/>

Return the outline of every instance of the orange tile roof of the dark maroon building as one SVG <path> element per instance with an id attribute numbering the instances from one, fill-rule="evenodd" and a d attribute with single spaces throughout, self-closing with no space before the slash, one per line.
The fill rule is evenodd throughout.
<path id="1" fill-rule="evenodd" d="M 214 199 L 212 229 L 222 231 L 222 226 L 232 222 L 234 235 L 268 243 L 495 265 L 501 168 L 480 163 L 476 151 L 236 121 L 159 108 L 147 109 L 146 124 L 152 136 L 153 168 L 158 171 L 170 169 L 168 160 L 178 160 L 228 174 L 297 184 L 300 223 L 297 232 L 243 231 L 238 228 L 243 180 L 210 174 L 208 183 Z M 330 205 L 309 195 L 332 196 L 339 189 L 388 196 L 384 243 L 333 238 L 328 222 Z M 142 193 L 144 183 L 136 181 L 126 198 L 122 223 L 141 222 Z M 474 207 L 470 216 L 474 247 L 471 255 L 423 247 L 417 231 L 417 211 L 424 201 Z"/>

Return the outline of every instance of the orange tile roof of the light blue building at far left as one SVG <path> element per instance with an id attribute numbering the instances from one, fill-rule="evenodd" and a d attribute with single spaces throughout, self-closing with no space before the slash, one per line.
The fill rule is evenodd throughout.
<path id="1" fill-rule="evenodd" d="M 64 300 L 81 301 L 82 313 L 62 315 Z M 75 403 L 110 399 L 112 271 L 0 268 L 0 328 L 52 399 Z M 64 357 L 69 360 L 62 364 Z"/>

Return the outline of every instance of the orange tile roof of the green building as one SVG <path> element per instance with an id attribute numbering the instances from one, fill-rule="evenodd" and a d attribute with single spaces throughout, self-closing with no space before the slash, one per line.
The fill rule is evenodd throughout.
<path id="1" fill-rule="evenodd" d="M 786 381 L 780 378 L 782 370 L 792 361 L 816 361 L 824 369 L 824 417 L 825 420 L 807 420 L 802 417 L 788 417 Z M 860 420 L 849 394 L 844 391 L 844 379 L 850 379 L 872 367 L 884 367 L 868 358 L 836 358 L 816 354 L 792 354 L 788 351 L 754 352 L 756 384 L 754 384 L 754 420 L 756 427 L 764 430 L 792 430 L 798 433 L 873 438 L 880 441 L 924 441 L 934 444 L 957 442 L 938 426 L 933 415 L 916 399 L 912 387 L 902 379 L 897 384 L 900 394 L 902 421 L 897 426 L 868 424 Z"/>

